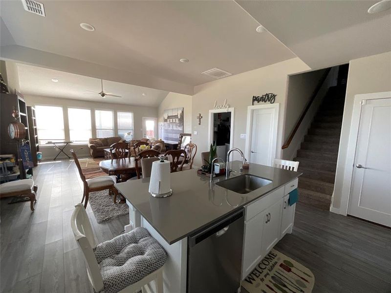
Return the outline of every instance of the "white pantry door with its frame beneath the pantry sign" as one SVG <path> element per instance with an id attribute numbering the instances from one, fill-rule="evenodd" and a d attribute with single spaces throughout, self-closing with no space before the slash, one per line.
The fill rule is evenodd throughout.
<path id="1" fill-rule="evenodd" d="M 278 104 L 249 106 L 246 157 L 250 163 L 272 166 L 276 156 Z"/>

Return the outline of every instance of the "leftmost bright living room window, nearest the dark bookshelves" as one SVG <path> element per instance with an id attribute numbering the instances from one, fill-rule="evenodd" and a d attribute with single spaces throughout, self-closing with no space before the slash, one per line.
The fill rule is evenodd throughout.
<path id="1" fill-rule="evenodd" d="M 35 106 L 40 145 L 48 141 L 64 141 L 63 107 Z"/>

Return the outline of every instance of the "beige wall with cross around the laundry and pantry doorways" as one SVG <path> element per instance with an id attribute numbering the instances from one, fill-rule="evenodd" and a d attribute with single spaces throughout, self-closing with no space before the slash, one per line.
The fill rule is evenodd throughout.
<path id="1" fill-rule="evenodd" d="M 240 73 L 221 80 L 195 86 L 193 96 L 193 117 L 201 113 L 201 125 L 193 121 L 193 142 L 198 151 L 195 165 L 200 166 L 200 153 L 208 151 L 208 115 L 213 109 L 215 101 L 223 104 L 227 99 L 230 107 L 235 108 L 233 146 L 244 150 L 245 139 L 240 139 L 240 133 L 246 133 L 247 106 L 252 104 L 254 95 L 260 96 L 265 93 L 277 94 L 275 103 L 280 103 L 280 117 L 277 134 L 277 157 L 281 157 L 283 128 L 286 109 L 286 89 L 289 74 L 303 72 L 310 69 L 299 58 L 293 58 L 280 63 Z M 197 131 L 197 135 L 194 135 Z"/>

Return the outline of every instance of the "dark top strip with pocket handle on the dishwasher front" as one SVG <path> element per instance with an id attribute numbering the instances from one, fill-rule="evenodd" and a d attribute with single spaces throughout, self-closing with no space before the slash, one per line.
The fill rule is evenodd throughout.
<path id="1" fill-rule="evenodd" d="M 213 224 L 204 230 L 201 230 L 193 235 L 190 235 L 188 239 L 189 240 L 188 246 L 193 247 L 197 243 L 205 240 L 206 238 L 212 235 L 216 237 L 223 235 L 225 232 L 228 231 L 229 225 L 231 225 L 231 223 L 235 222 L 236 220 L 239 220 L 243 216 L 244 216 L 243 209 L 240 209 L 238 212 L 235 212 L 230 216 L 226 217 L 225 219 L 218 221 L 216 224 Z"/>

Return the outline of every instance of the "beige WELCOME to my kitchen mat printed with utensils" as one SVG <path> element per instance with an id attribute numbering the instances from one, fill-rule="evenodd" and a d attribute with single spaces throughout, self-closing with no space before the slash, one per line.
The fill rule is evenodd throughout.
<path id="1" fill-rule="evenodd" d="M 249 293 L 311 293 L 314 283 L 309 269 L 272 249 L 241 286 Z"/>

